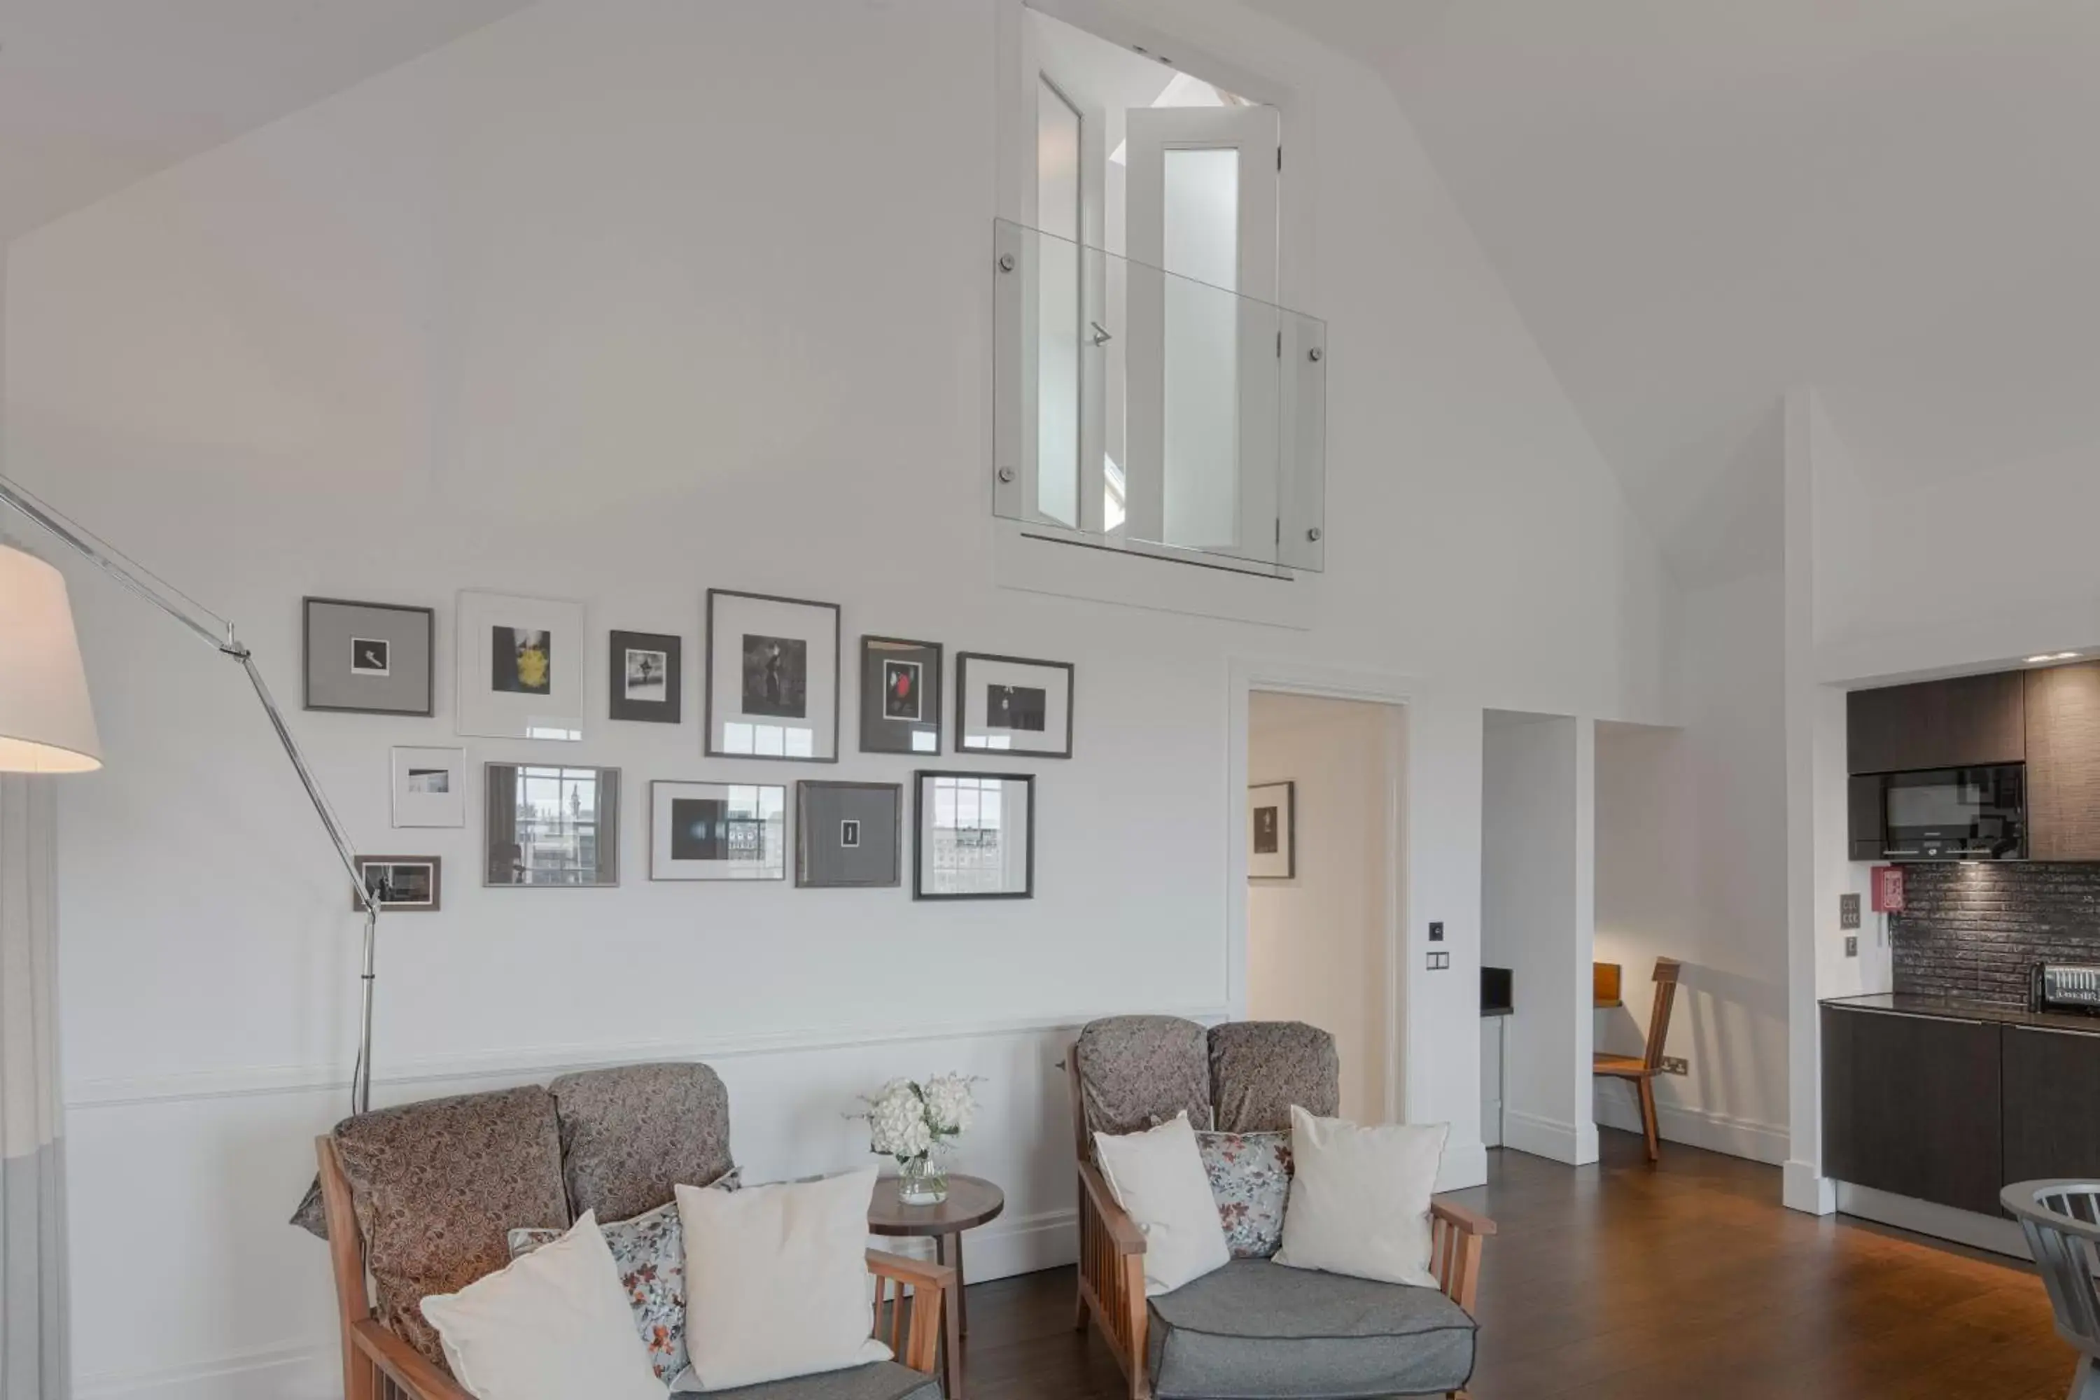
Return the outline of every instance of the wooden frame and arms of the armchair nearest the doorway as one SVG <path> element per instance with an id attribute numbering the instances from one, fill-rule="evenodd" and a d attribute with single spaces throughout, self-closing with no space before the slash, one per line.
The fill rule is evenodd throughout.
<path id="1" fill-rule="evenodd" d="M 1065 1075 L 1071 1081 L 1073 1146 L 1079 1152 L 1079 1306 L 1073 1327 L 1086 1331 L 1088 1316 L 1100 1322 L 1109 1352 L 1130 1379 L 1130 1400 L 1151 1400 L 1144 1234 L 1115 1203 L 1088 1150 L 1077 1045 L 1065 1052 Z M 1430 1274 L 1445 1297 L 1468 1314 L 1480 1289 L 1480 1240 L 1493 1232 L 1495 1222 L 1478 1211 L 1430 1203 Z"/>

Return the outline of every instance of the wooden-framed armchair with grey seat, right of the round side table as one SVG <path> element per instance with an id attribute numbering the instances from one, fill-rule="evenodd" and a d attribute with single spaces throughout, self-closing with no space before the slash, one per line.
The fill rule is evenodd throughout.
<path id="1" fill-rule="evenodd" d="M 1077 1324 L 1100 1327 L 1132 1400 L 1386 1400 L 1455 1396 L 1472 1379 L 1480 1240 L 1495 1224 L 1430 1209 L 1436 1289 L 1233 1259 L 1144 1297 L 1144 1234 L 1094 1165 L 1094 1133 L 1186 1112 L 1203 1129 L 1287 1131 L 1292 1104 L 1334 1117 L 1334 1037 L 1302 1022 L 1172 1016 L 1090 1022 L 1065 1058 L 1079 1161 Z"/>

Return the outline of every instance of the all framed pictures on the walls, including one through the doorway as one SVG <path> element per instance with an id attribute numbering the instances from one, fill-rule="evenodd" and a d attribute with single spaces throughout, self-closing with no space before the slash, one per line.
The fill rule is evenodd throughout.
<path id="1" fill-rule="evenodd" d="M 840 762 L 842 613 L 836 602 L 710 588 L 701 600 L 701 760 Z M 580 745 L 586 684 L 605 676 L 605 718 L 685 724 L 685 636 L 609 630 L 592 644 L 580 600 L 462 590 L 454 630 L 454 730 L 468 739 Z M 401 602 L 307 598 L 302 670 L 309 709 L 433 718 L 437 611 Z M 874 760 L 1071 758 L 1069 661 L 932 640 L 861 634 L 853 653 L 857 749 Z M 953 699 L 949 699 L 953 697 Z M 575 754 L 569 749 L 569 754 Z M 468 827 L 489 888 L 620 884 L 622 770 L 506 754 L 470 766 L 456 745 L 393 745 L 395 829 Z M 481 783 L 479 800 L 470 791 Z M 741 775 L 647 783 L 651 882 L 779 882 L 802 890 L 903 886 L 911 898 L 1033 898 L 1035 775 L 922 768 L 903 781 L 754 783 Z M 1262 821 L 1270 827 L 1262 827 Z M 1292 869 L 1292 804 L 1256 808 L 1256 877 Z M 909 842 L 907 842 L 909 825 Z M 1264 835 L 1266 831 L 1266 835 Z M 405 844 L 405 842 L 403 842 Z M 441 909 L 441 856 L 361 856 L 386 911 Z M 355 896 L 353 896 L 353 903 Z"/>

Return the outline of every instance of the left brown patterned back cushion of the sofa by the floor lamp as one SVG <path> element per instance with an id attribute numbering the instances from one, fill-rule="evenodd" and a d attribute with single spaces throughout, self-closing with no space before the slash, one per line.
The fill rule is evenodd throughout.
<path id="1" fill-rule="evenodd" d="M 504 1268 L 514 1226 L 569 1224 L 554 1098 L 538 1085 L 435 1098 L 344 1119 L 334 1136 L 378 1316 L 443 1366 L 422 1297 Z"/>

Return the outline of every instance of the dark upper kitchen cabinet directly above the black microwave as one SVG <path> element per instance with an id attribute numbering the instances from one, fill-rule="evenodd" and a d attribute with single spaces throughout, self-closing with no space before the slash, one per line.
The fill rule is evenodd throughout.
<path id="1" fill-rule="evenodd" d="M 1955 676 L 1846 695 L 1850 772 L 2026 760 L 2026 676 Z"/>

